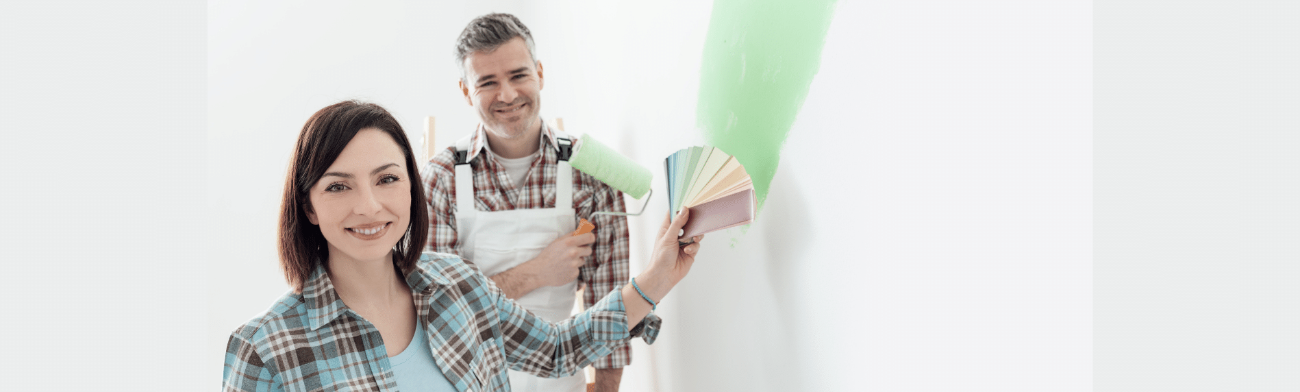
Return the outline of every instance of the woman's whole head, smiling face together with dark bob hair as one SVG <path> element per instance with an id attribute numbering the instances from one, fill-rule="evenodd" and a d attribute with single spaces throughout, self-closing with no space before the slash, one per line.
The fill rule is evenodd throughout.
<path id="1" fill-rule="evenodd" d="M 358 167 L 368 161 L 378 167 Z M 348 100 L 312 115 L 294 147 L 280 214 L 280 263 L 294 292 L 303 290 L 303 283 L 316 270 L 315 262 L 328 260 L 330 254 L 373 262 L 391 251 L 398 267 L 410 271 L 428 231 L 411 221 L 429 219 L 425 208 L 417 207 L 424 203 L 424 193 L 411 186 L 412 178 L 420 175 L 411 143 L 382 107 Z M 406 211 L 390 210 L 395 206 Z M 352 208 L 369 207 L 376 210 L 348 216 Z M 403 220 L 394 221 L 399 216 Z M 381 219 L 389 219 L 384 233 L 373 233 Z M 390 231 L 393 223 L 403 229 Z M 377 237 L 365 238 L 367 233 Z M 352 240 L 348 234 L 360 236 Z M 400 241 L 367 241 L 387 234 Z M 411 246 L 411 238 L 421 244 Z M 382 246 L 387 242 L 396 247 Z"/>

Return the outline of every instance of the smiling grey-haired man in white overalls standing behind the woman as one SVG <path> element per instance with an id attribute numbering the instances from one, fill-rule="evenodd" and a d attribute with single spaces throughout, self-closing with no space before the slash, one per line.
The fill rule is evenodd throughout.
<path id="1" fill-rule="evenodd" d="M 568 318 L 585 287 L 589 307 L 628 280 L 628 225 L 623 195 L 568 165 L 578 142 L 542 121 L 542 63 L 519 18 L 474 18 L 456 40 L 460 92 L 480 125 L 436 155 L 422 171 L 429 204 L 426 250 L 454 253 L 533 314 Z M 569 236 L 578 219 L 593 233 Z M 619 388 L 632 350 L 623 344 L 594 363 L 597 391 Z M 581 374 L 541 379 L 511 371 L 514 391 L 585 389 Z"/>

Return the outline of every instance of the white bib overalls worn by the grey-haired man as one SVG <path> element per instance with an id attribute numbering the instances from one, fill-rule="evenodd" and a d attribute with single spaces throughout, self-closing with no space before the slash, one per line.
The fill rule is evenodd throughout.
<path id="1" fill-rule="evenodd" d="M 568 164 L 572 142 L 567 134 L 555 133 L 562 150 L 555 173 L 555 208 L 488 212 L 474 208 L 474 177 L 467 159 L 471 137 L 472 134 L 456 142 L 456 238 L 460 241 L 462 257 L 478 266 L 485 276 L 493 276 L 530 260 L 551 241 L 573 232 L 573 169 Z M 576 293 L 577 280 L 573 280 L 562 287 L 538 288 L 515 298 L 515 302 L 554 323 L 569 318 Z M 514 391 L 586 391 L 586 378 L 581 371 L 559 379 L 538 378 L 515 370 L 507 372 Z"/>

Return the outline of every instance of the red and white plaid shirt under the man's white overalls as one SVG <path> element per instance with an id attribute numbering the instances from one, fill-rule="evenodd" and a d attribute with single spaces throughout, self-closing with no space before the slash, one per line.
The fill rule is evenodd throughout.
<path id="1" fill-rule="evenodd" d="M 555 207 L 555 169 L 559 158 L 555 134 L 542 124 L 538 141 L 542 154 L 528 169 L 526 181 L 516 189 L 506 173 L 506 167 L 488 150 L 488 135 L 482 126 L 474 129 L 468 159 L 474 173 L 474 206 L 478 211 L 508 211 L 517 208 Z M 575 146 L 577 146 L 575 141 Z M 456 158 L 455 146 L 442 150 L 424 165 L 424 190 L 428 195 L 429 241 L 425 251 L 463 254 L 456 237 Z M 623 193 L 604 185 L 586 173 L 573 169 L 573 216 L 595 225 L 592 232 L 592 255 L 578 268 L 578 287 L 585 285 L 582 309 L 590 307 L 612 290 L 628 283 L 628 220 L 625 216 L 595 215 L 595 211 L 624 212 Z M 472 262 L 472 260 L 471 260 Z M 627 343 L 612 354 L 601 358 L 595 369 L 616 369 L 632 363 L 632 348 Z"/>

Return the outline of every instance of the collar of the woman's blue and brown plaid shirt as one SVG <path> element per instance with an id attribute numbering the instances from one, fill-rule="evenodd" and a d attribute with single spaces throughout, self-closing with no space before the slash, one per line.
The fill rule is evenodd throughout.
<path id="1" fill-rule="evenodd" d="M 428 258 L 428 254 L 421 255 L 420 262 L 415 264 L 415 271 L 406 276 L 407 285 L 413 293 L 428 292 L 434 285 L 451 285 L 451 280 L 443 276 L 441 270 L 430 268 L 434 263 L 426 263 Z M 329 273 L 325 273 L 324 263 L 317 266 L 312 277 L 303 284 L 303 301 L 307 303 L 307 323 L 312 331 L 329 324 L 347 311 L 347 305 L 343 305 L 343 300 L 334 290 L 334 283 L 330 281 Z"/>

